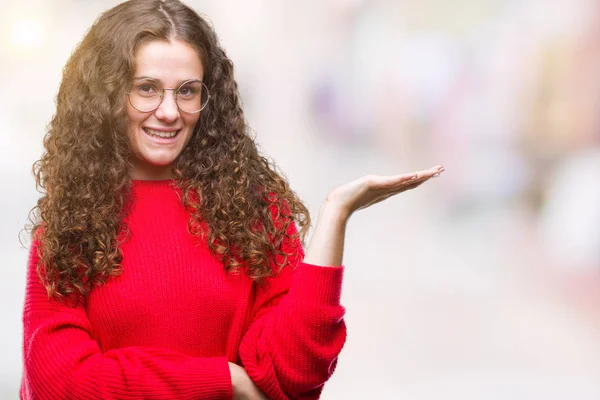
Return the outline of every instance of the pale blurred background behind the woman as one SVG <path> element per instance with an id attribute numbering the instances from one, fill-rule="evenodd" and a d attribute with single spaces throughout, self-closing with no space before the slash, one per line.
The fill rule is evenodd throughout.
<path id="1" fill-rule="evenodd" d="M 63 65 L 119 1 L 0 3 L 0 398 L 16 399 L 31 165 Z M 314 217 L 362 175 L 446 167 L 352 217 L 324 399 L 600 399 L 600 3 L 187 3 Z"/>

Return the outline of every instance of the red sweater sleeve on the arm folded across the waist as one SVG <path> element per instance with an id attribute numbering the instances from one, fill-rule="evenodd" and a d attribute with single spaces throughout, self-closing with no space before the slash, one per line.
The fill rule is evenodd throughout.
<path id="1" fill-rule="evenodd" d="M 231 399 L 226 357 L 194 358 L 158 348 L 102 352 L 83 305 L 48 298 L 29 255 L 23 308 L 21 399 Z"/>

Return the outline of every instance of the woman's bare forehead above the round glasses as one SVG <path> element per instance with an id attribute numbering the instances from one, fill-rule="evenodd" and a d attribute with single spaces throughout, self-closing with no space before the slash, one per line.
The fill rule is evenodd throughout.
<path id="1" fill-rule="evenodd" d="M 135 76 L 152 77 L 165 85 L 204 76 L 200 55 L 181 40 L 152 40 L 135 52 Z"/>

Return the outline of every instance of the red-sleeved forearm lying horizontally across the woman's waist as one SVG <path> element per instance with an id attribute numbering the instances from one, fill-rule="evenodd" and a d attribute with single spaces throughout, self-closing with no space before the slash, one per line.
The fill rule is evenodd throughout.
<path id="1" fill-rule="evenodd" d="M 51 349 L 57 355 L 52 360 L 28 348 L 31 358 L 24 365 L 22 398 L 162 400 L 228 399 L 232 395 L 224 357 L 192 358 L 142 347 L 101 354 L 93 353 L 91 345 L 78 347 Z M 86 350 L 92 355 L 83 354 Z"/>

